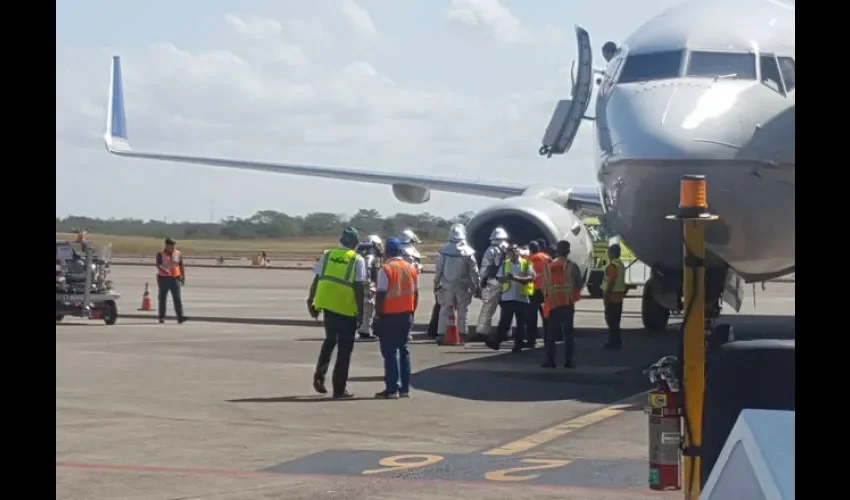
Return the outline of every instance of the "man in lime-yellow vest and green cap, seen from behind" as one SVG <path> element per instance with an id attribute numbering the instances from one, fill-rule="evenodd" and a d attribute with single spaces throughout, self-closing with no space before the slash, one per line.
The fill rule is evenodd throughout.
<path id="1" fill-rule="evenodd" d="M 314 318 L 324 312 L 325 341 L 319 350 L 313 389 L 319 394 L 328 392 L 325 376 L 331 364 L 331 354 L 339 345 L 333 372 L 333 398 L 349 399 L 345 390 L 354 335 L 363 321 L 363 295 L 368 286 L 366 262 L 354 251 L 357 247 L 357 230 L 349 227 L 339 238 L 342 248 L 326 250 L 313 268 L 313 283 L 307 297 L 307 308 Z"/>

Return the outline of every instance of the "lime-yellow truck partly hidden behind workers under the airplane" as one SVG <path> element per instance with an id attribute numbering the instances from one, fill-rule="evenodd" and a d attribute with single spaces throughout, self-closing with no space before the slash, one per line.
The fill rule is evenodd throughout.
<path id="1" fill-rule="evenodd" d="M 593 267 L 587 277 L 587 292 L 590 296 L 595 299 L 602 297 L 602 280 L 608 266 L 608 246 L 613 243 L 620 244 L 620 259 L 626 266 L 626 292 L 643 286 L 650 276 L 649 266 L 637 260 L 625 242 L 611 233 L 598 217 L 588 217 L 583 222 L 593 239 Z"/>

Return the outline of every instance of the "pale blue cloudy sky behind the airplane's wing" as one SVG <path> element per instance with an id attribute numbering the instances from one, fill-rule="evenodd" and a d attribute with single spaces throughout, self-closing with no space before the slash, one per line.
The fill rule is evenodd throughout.
<path id="1" fill-rule="evenodd" d="M 569 96 L 573 26 L 588 30 L 601 59 L 603 43 L 679 2 L 60 1 L 56 215 L 210 221 L 373 208 L 448 217 L 493 202 L 434 192 L 409 205 L 389 186 L 109 155 L 113 55 L 135 149 L 592 185 L 590 122 L 567 155 L 537 154 Z"/>

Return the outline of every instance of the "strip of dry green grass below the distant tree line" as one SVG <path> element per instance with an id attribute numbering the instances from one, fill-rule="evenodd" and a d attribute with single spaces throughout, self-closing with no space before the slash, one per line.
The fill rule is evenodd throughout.
<path id="1" fill-rule="evenodd" d="M 116 257 L 152 256 L 162 250 L 161 238 L 145 236 L 114 236 L 87 234 L 86 238 L 96 247 L 112 244 L 112 255 Z M 75 234 L 56 233 L 57 240 L 74 240 Z M 420 252 L 432 254 L 441 243 L 425 242 Z M 339 246 L 333 238 L 298 238 L 289 240 L 177 240 L 177 248 L 187 259 L 199 257 L 252 258 L 265 251 L 269 259 L 313 260 L 328 248 Z"/>

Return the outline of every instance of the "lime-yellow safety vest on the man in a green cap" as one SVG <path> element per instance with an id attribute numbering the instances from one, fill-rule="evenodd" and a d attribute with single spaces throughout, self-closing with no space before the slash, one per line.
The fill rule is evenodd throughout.
<path id="1" fill-rule="evenodd" d="M 362 259 L 354 250 L 338 248 L 324 255 L 313 307 L 341 316 L 357 316 L 360 305 L 354 295 L 354 271 Z"/>

